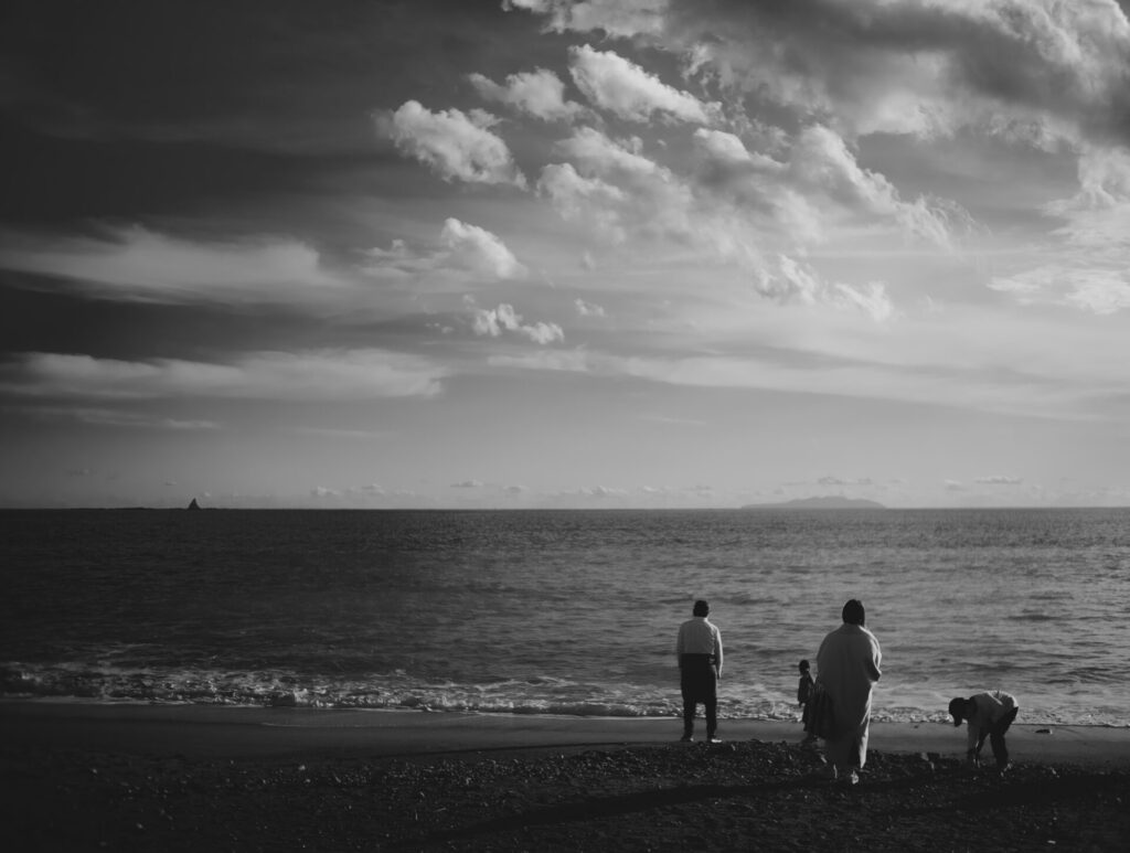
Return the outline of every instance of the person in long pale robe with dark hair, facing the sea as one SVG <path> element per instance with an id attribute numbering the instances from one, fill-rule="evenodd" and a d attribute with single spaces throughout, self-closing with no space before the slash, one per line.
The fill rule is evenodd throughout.
<path id="1" fill-rule="evenodd" d="M 825 756 L 834 772 L 846 771 L 851 781 L 855 768 L 867 763 L 871 722 L 871 688 L 883 672 L 879 641 L 863 627 L 863 604 L 852 599 L 843 608 L 843 625 L 828 634 L 816 655 L 816 680 L 832 697 L 833 737 L 825 741 Z"/>

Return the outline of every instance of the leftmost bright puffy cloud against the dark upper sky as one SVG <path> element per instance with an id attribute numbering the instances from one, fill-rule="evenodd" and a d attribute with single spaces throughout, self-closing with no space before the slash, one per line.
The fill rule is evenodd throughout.
<path id="1" fill-rule="evenodd" d="M 444 181 L 512 184 L 525 189 L 525 176 L 502 138 L 490 132 L 497 123 L 489 113 L 441 110 L 433 113 L 417 101 L 377 115 L 377 132 L 402 154 L 429 166 Z"/>

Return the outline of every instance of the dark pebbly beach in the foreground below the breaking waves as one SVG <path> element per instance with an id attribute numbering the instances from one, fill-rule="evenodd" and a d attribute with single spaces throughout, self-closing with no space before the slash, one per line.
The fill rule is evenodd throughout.
<path id="1" fill-rule="evenodd" d="M 796 723 L 0 703 L 14 850 L 1122 850 L 1130 730 L 878 723 L 861 782 Z M 988 747 L 986 747 L 988 754 Z"/>

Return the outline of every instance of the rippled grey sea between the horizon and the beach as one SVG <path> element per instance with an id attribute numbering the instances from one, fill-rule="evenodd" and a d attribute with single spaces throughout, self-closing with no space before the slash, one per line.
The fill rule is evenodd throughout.
<path id="1" fill-rule="evenodd" d="M 673 715 L 698 597 L 723 716 L 859 598 L 880 720 L 1130 725 L 1125 510 L 0 512 L 0 695 Z"/>

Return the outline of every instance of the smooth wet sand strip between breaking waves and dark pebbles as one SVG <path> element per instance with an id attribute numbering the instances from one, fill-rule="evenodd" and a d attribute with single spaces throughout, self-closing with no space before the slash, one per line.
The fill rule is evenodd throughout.
<path id="1" fill-rule="evenodd" d="M 275 708 L 0 700 L 0 742 L 103 748 L 133 755 L 194 757 L 357 755 L 407 758 L 507 750 L 592 749 L 678 740 L 677 717 Z M 696 734 L 702 738 L 703 723 Z M 796 743 L 800 723 L 719 721 L 723 741 Z M 965 728 L 948 723 L 872 722 L 870 751 L 936 752 L 959 758 Z M 1130 728 L 1025 724 L 1008 734 L 1016 761 L 1130 768 Z M 988 755 L 988 745 L 985 747 Z"/>

